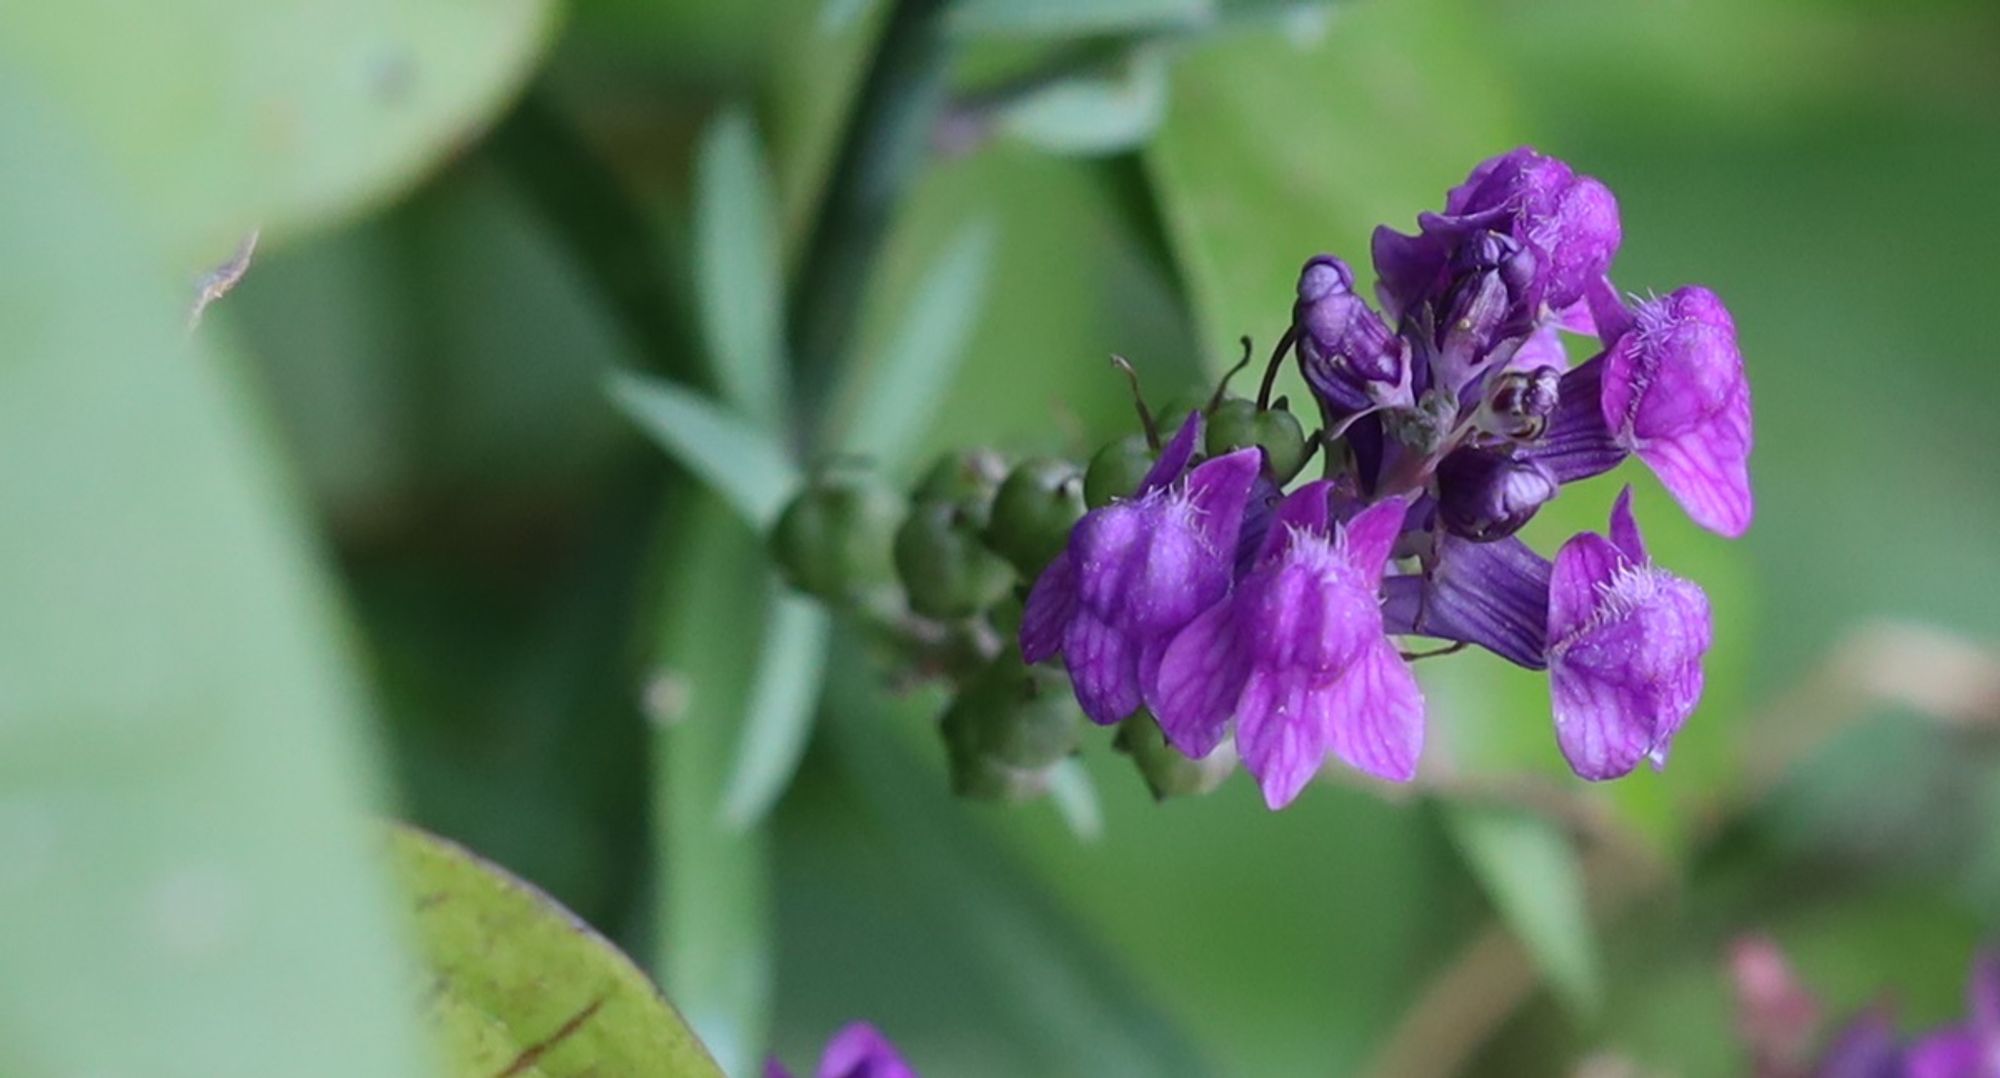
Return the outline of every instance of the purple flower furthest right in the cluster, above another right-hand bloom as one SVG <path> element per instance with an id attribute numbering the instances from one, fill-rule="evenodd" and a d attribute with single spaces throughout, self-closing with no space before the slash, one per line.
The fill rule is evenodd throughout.
<path id="1" fill-rule="evenodd" d="M 1562 482 L 1634 452 L 1696 524 L 1736 538 L 1754 508 L 1750 444 L 1736 322 L 1714 292 L 1688 286 L 1640 304 L 1602 356 L 1562 376 L 1534 452 Z"/>

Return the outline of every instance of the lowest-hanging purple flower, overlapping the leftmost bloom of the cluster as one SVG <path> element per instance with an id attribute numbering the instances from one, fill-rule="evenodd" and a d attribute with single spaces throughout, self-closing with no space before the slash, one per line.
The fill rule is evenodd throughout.
<path id="1" fill-rule="evenodd" d="M 1270 808 L 1328 754 L 1406 782 L 1424 746 L 1424 696 L 1380 610 L 1406 504 L 1336 526 L 1330 490 L 1312 482 L 1278 506 L 1256 568 L 1174 636 L 1148 682 L 1160 728 L 1188 756 L 1208 756 L 1236 718 L 1236 750 Z"/>

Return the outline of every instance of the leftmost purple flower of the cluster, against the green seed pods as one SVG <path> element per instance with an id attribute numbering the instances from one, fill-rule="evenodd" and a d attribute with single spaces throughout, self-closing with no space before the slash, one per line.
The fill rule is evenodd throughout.
<path id="1" fill-rule="evenodd" d="M 1140 672 L 1230 590 L 1262 456 L 1236 450 L 1182 476 L 1200 428 L 1194 412 L 1132 498 L 1084 514 L 1068 550 L 1028 592 L 1022 658 L 1060 654 L 1092 722 L 1108 726 L 1138 710 Z"/>

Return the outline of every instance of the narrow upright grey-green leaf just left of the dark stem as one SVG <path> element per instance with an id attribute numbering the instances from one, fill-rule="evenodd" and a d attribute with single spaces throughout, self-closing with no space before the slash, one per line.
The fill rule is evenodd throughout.
<path id="1" fill-rule="evenodd" d="M 694 284 L 722 400 L 776 428 L 784 416 L 784 274 L 770 166 L 748 108 L 702 136 L 694 174 Z"/>

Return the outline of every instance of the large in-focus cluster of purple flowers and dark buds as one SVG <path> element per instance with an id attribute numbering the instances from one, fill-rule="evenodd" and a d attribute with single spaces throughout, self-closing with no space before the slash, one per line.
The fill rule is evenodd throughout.
<path id="1" fill-rule="evenodd" d="M 1514 538 L 1626 456 L 1698 524 L 1750 526 L 1736 326 L 1706 288 L 1622 298 L 1618 242 L 1604 184 L 1520 148 L 1416 234 L 1376 230 L 1378 304 L 1342 260 L 1308 260 L 1254 406 L 1218 394 L 1074 524 L 1028 596 L 1022 658 L 1060 658 L 1094 722 L 1156 720 L 1188 758 L 1234 728 L 1272 808 L 1328 756 L 1416 774 L 1424 698 L 1394 636 L 1548 670 L 1584 778 L 1662 766 L 1702 694 L 1706 596 L 1648 558 L 1630 488 L 1554 562 Z M 1570 366 L 1564 334 L 1594 354 Z M 1286 358 L 1322 422 L 1304 454 L 1254 422 L 1292 422 L 1268 400 Z M 1324 474 L 1286 492 L 1314 452 Z"/>

